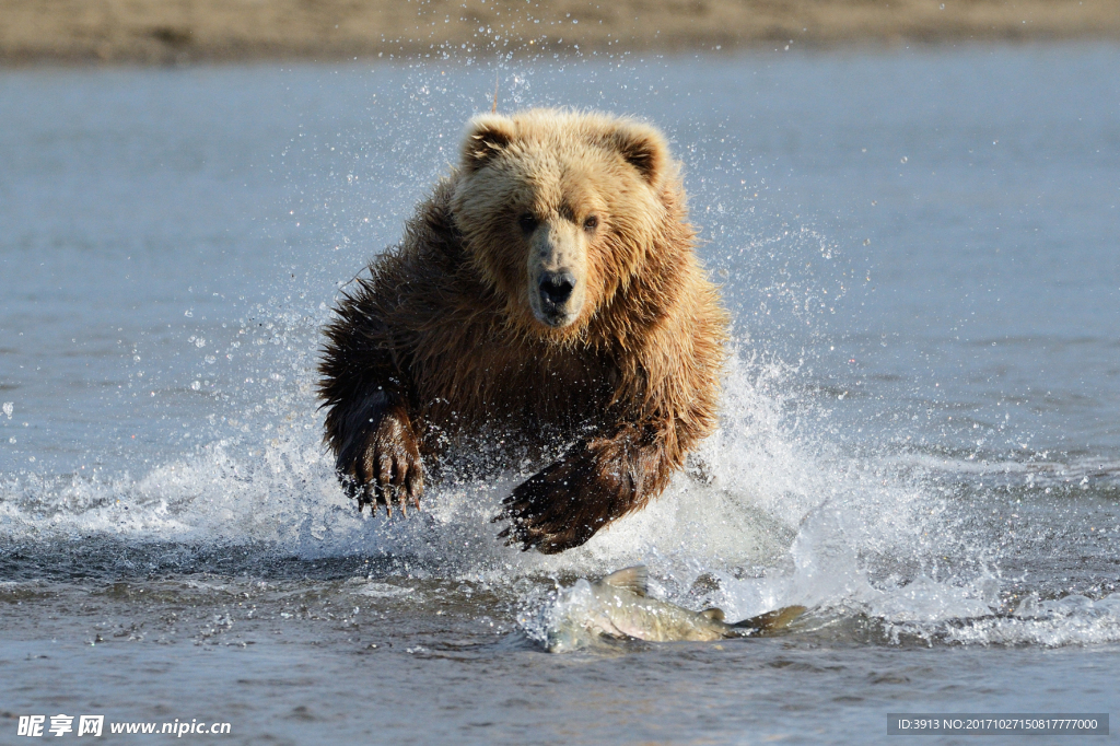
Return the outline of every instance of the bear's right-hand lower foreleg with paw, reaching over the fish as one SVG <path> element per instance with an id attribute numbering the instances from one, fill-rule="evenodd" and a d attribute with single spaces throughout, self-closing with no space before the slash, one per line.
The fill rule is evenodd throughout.
<path id="1" fill-rule="evenodd" d="M 579 547 L 659 495 L 676 466 L 662 438 L 636 429 L 582 442 L 505 498 L 498 537 L 544 554 Z"/>

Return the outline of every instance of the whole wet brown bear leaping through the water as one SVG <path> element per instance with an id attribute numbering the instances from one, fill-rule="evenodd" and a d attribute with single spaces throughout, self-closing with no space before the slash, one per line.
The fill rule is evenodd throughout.
<path id="1" fill-rule="evenodd" d="M 495 521 L 544 553 L 660 494 L 716 426 L 727 315 L 663 136 L 487 114 L 326 327 L 326 442 L 358 510 L 419 507 L 448 444 L 559 448 Z M 510 442 L 513 442 L 512 440 Z"/>

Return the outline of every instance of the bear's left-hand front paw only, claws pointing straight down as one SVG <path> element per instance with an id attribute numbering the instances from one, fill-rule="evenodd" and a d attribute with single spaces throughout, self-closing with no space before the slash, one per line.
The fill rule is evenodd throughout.
<path id="1" fill-rule="evenodd" d="M 394 407 L 382 416 L 354 461 L 338 465 L 338 478 L 346 494 L 357 498 L 358 512 L 370 505 L 371 512 L 376 513 L 384 505 L 392 515 L 394 500 L 405 515 L 407 501 L 420 509 L 423 467 L 412 422 L 403 407 Z"/>

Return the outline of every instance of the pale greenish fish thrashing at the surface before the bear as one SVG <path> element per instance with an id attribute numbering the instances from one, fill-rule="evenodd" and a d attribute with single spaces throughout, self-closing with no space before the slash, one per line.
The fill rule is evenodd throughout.
<path id="1" fill-rule="evenodd" d="M 651 598 L 648 570 L 628 567 L 594 582 L 581 579 L 567 588 L 551 609 L 545 646 L 550 652 L 579 647 L 597 637 L 647 642 L 711 642 L 767 635 L 805 613 L 786 606 L 741 622 L 728 623 L 719 608 L 692 612 Z"/>

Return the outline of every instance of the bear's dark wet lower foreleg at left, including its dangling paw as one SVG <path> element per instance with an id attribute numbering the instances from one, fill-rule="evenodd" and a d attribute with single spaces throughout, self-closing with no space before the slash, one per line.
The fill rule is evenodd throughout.
<path id="1" fill-rule="evenodd" d="M 327 416 L 328 441 L 335 447 L 335 472 L 346 494 L 376 512 L 380 505 L 392 515 L 393 500 L 408 512 L 408 503 L 420 507 L 423 468 L 412 420 L 404 405 L 376 391 L 348 408 L 336 407 Z"/>

